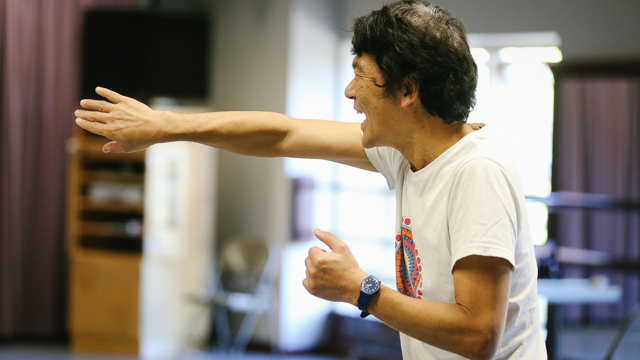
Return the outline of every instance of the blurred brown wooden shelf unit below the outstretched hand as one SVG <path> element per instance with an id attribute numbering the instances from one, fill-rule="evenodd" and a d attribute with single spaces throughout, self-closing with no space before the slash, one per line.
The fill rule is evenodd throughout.
<path id="1" fill-rule="evenodd" d="M 78 129 L 68 143 L 68 326 L 74 350 L 138 353 L 145 152 L 108 141 Z"/>

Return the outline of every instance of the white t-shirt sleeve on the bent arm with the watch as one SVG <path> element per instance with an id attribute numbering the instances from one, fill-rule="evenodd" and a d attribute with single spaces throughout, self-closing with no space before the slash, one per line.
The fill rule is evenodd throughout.
<path id="1" fill-rule="evenodd" d="M 451 270 L 470 255 L 506 259 L 515 269 L 518 197 L 507 171 L 491 159 L 463 164 L 449 197 Z"/>

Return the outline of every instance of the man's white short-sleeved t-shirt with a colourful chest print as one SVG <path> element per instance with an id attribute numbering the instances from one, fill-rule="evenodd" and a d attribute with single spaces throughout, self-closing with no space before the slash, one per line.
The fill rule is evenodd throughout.
<path id="1" fill-rule="evenodd" d="M 514 273 L 505 332 L 494 359 L 546 359 L 537 266 L 515 165 L 486 131 L 474 131 L 413 172 L 389 147 L 367 149 L 396 190 L 396 285 L 419 299 L 455 303 L 452 270 L 469 255 L 508 260 Z M 463 359 L 400 334 L 410 359 Z"/>

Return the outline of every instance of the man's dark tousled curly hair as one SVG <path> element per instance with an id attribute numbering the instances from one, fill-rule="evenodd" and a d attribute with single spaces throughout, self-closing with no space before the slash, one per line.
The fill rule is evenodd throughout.
<path id="1" fill-rule="evenodd" d="M 476 101 L 478 69 L 464 25 L 449 11 L 428 1 L 402 0 L 357 18 L 352 31 L 352 53 L 373 57 L 385 94 L 415 81 L 431 115 L 447 124 L 466 121 Z"/>

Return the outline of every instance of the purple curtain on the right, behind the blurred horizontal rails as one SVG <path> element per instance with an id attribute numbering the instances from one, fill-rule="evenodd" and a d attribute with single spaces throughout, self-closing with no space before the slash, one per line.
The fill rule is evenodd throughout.
<path id="1" fill-rule="evenodd" d="M 556 71 L 553 189 L 640 199 L 640 64 L 566 66 Z M 640 210 L 567 210 L 556 215 L 560 245 L 640 259 Z M 623 287 L 612 305 L 565 307 L 569 322 L 617 321 L 640 301 L 637 273 L 565 266 Z"/>

